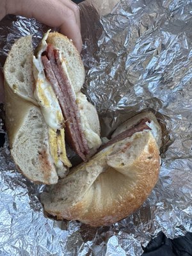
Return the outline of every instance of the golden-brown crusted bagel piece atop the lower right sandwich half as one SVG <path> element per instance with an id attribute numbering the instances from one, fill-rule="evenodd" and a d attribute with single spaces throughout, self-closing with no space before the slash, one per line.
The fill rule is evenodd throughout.
<path id="1" fill-rule="evenodd" d="M 88 163 L 42 193 L 45 212 L 60 219 L 98 227 L 138 209 L 154 188 L 160 168 L 159 148 L 150 131 L 136 132 L 104 148 Z"/>

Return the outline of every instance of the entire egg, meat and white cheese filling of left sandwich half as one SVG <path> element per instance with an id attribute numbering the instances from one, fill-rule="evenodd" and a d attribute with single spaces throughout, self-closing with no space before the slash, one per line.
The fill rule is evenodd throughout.
<path id="1" fill-rule="evenodd" d="M 92 147 L 100 146 L 101 140 L 99 135 L 92 131 L 84 116 L 82 120 L 79 109 L 82 93 L 76 94 L 74 91 L 66 60 L 59 49 L 47 44 L 48 36 L 49 31 L 42 38 L 36 57 L 33 56 L 33 74 L 36 82 L 34 95 L 49 127 L 49 144 L 54 164 L 57 170 L 63 170 L 63 165 L 67 168 L 71 166 L 65 140 L 83 161 L 86 161 Z"/>

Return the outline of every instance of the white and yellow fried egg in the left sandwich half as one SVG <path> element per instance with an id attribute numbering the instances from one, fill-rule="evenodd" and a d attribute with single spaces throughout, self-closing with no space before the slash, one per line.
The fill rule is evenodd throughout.
<path id="1" fill-rule="evenodd" d="M 48 35 L 49 31 L 42 39 L 37 57 L 33 56 L 33 74 L 36 82 L 34 96 L 49 127 L 49 145 L 54 164 L 58 173 L 63 173 L 67 170 L 63 164 L 70 167 L 71 163 L 68 160 L 65 149 L 65 131 L 63 128 L 65 126 L 65 120 L 63 113 L 51 83 L 45 77 L 42 63 L 42 52 L 47 49 L 46 40 Z"/>

